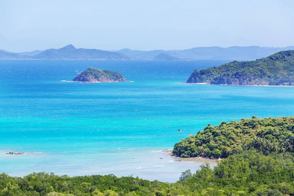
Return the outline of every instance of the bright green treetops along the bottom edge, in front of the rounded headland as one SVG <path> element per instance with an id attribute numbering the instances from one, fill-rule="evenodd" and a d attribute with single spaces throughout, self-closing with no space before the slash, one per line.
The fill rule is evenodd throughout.
<path id="1" fill-rule="evenodd" d="M 156 174 L 154 174 L 156 175 Z M 114 175 L 0 174 L 0 196 L 294 196 L 293 153 L 247 151 L 208 164 L 176 183 Z"/>

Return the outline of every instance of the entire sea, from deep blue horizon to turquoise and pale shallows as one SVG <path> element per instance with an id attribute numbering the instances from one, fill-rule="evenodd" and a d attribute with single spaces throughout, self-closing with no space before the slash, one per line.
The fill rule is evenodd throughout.
<path id="1" fill-rule="evenodd" d="M 158 150 L 208 123 L 294 114 L 292 87 L 177 83 L 195 69 L 228 61 L 1 60 L 0 172 L 114 173 L 174 182 L 203 161 L 178 162 Z M 134 82 L 61 81 L 88 67 L 119 71 Z M 9 151 L 42 153 L 4 154 Z"/>

